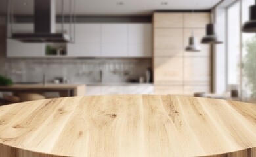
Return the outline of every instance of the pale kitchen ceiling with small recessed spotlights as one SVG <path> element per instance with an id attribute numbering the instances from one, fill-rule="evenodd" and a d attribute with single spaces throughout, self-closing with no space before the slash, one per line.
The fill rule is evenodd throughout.
<path id="1" fill-rule="evenodd" d="M 6 1 L 0 1 L 0 14 L 6 12 Z M 15 14 L 33 14 L 34 0 L 13 0 Z M 57 12 L 60 13 L 60 0 Z M 76 12 L 86 16 L 150 15 L 156 10 L 208 10 L 221 0 L 76 0 Z M 65 10 L 68 12 L 69 0 Z"/>

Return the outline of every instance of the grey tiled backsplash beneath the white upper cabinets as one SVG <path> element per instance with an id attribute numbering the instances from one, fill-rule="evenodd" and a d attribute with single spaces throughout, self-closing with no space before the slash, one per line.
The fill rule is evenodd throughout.
<path id="1" fill-rule="evenodd" d="M 42 82 L 43 75 L 52 82 L 66 77 L 72 83 L 122 83 L 144 76 L 152 60 L 148 58 L 2 58 L 0 74 L 14 82 Z M 100 77 L 102 71 L 102 77 Z"/>

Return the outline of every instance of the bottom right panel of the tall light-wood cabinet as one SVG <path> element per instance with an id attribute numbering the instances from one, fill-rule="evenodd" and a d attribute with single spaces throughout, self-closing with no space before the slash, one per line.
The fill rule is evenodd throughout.
<path id="1" fill-rule="evenodd" d="M 184 94 L 193 96 L 194 93 L 198 92 L 211 92 L 209 84 L 206 85 L 185 85 L 184 86 Z"/>

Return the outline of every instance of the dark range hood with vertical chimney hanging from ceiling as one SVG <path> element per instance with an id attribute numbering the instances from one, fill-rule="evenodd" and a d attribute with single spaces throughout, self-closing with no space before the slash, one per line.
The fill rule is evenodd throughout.
<path id="1" fill-rule="evenodd" d="M 11 38 L 23 42 L 69 42 L 68 34 L 56 33 L 55 0 L 34 0 L 34 33 L 12 33 Z"/>

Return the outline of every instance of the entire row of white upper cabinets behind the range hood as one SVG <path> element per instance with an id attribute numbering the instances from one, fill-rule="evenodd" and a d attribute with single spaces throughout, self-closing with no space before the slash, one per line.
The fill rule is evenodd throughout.
<path id="1" fill-rule="evenodd" d="M 64 24 L 64 32 L 70 32 Z M 14 33 L 33 33 L 33 24 L 14 24 Z M 56 32 L 62 25 L 56 25 Z M 73 31 L 73 26 L 71 31 Z M 67 43 L 68 57 L 151 57 L 152 24 L 75 24 L 75 43 Z M 44 43 L 7 41 L 8 57 L 44 57 Z"/>

